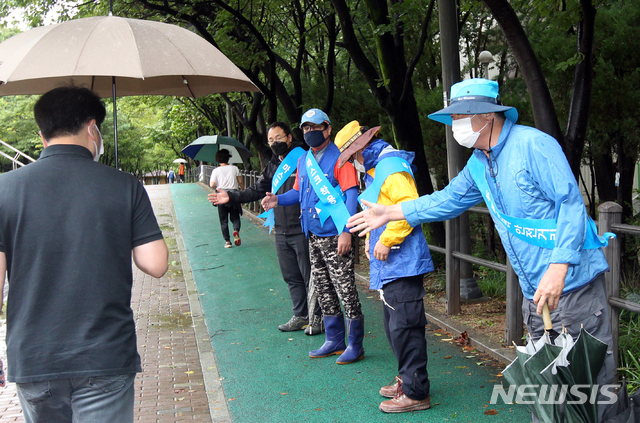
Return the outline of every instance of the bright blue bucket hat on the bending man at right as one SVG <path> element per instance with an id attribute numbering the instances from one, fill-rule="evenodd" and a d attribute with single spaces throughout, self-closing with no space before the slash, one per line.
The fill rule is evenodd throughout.
<path id="1" fill-rule="evenodd" d="M 451 86 L 449 107 L 429 115 L 429 119 L 451 125 L 451 115 L 476 115 L 504 112 L 514 123 L 518 120 L 515 107 L 503 106 L 498 94 L 498 83 L 483 78 L 467 79 Z"/>

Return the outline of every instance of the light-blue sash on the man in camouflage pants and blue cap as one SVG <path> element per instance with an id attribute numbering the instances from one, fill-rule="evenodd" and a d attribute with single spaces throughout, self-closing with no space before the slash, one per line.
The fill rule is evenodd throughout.
<path id="1" fill-rule="evenodd" d="M 327 177 L 324 176 L 324 172 L 322 172 L 311 150 L 307 152 L 305 164 L 307 166 L 307 174 L 309 175 L 309 184 L 313 187 L 313 191 L 320 199 L 320 201 L 316 203 L 316 211 L 318 212 L 318 217 L 320 217 L 320 223 L 324 225 L 324 222 L 331 216 L 338 232 L 342 232 L 347 224 L 347 220 L 351 217 L 349 210 L 347 210 L 347 205 L 342 198 L 344 195 L 342 190 L 338 193 Z"/>

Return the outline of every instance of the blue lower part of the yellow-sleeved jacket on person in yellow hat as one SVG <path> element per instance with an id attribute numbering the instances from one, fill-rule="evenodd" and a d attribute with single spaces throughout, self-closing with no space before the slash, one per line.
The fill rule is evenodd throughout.
<path id="1" fill-rule="evenodd" d="M 391 247 L 386 261 L 373 257 L 373 249 L 386 227 L 387 225 L 384 225 L 369 233 L 369 289 L 382 289 L 383 285 L 396 279 L 433 271 L 429 246 L 420 225 L 413 228 L 401 244 Z"/>

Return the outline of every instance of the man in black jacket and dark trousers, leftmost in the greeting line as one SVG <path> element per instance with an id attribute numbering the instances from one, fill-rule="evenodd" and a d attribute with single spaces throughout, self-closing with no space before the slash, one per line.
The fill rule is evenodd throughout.
<path id="1" fill-rule="evenodd" d="M 278 167 L 289 153 L 302 143 L 297 142 L 291 135 L 289 126 L 284 122 L 274 122 L 269 125 L 267 133 L 269 146 L 273 157 L 262 170 L 262 175 L 255 185 L 242 191 L 218 190 L 209 194 L 209 201 L 218 204 L 241 204 L 262 199 L 267 192 L 271 192 L 271 184 Z M 282 184 L 279 193 L 284 193 L 293 187 L 294 172 Z M 300 206 L 276 207 L 274 209 L 276 231 L 276 252 L 282 277 L 289 287 L 293 316 L 287 323 L 278 326 L 283 332 L 305 330 L 307 335 L 317 335 L 322 332 L 322 311 L 317 297 L 308 298 L 311 264 L 309 263 L 309 240 L 304 236 L 300 226 Z M 309 313 L 309 306 L 311 313 Z M 311 314 L 311 316 L 309 316 Z M 311 319 L 310 319 L 311 318 Z"/>

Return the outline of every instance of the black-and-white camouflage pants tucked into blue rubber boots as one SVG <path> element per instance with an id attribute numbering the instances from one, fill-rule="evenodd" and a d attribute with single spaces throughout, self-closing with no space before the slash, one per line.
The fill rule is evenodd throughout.
<path id="1" fill-rule="evenodd" d="M 338 236 L 318 237 L 309 234 L 311 277 L 318 291 L 318 302 L 325 316 L 340 313 L 340 300 L 350 319 L 362 316 L 356 290 L 353 248 L 344 256 L 338 254 Z"/>

